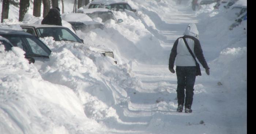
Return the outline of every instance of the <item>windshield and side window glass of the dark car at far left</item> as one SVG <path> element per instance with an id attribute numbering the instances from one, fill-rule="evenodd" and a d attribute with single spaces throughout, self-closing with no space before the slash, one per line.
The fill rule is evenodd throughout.
<path id="1" fill-rule="evenodd" d="M 28 35 L 1 35 L 8 39 L 13 46 L 23 49 L 26 54 L 49 56 L 51 51 L 35 36 Z"/>

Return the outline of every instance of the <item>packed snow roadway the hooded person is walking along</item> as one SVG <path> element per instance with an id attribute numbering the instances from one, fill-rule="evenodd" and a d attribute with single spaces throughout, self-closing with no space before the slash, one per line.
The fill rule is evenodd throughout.
<path id="1" fill-rule="evenodd" d="M 162 46 L 171 49 L 174 41 L 183 34 L 188 23 L 199 20 L 185 5 L 177 7 L 179 14 L 164 17 L 169 29 L 161 33 L 167 37 Z M 161 29 L 161 28 L 159 28 Z M 167 57 L 166 59 L 168 59 Z M 130 90 L 128 107 L 121 107 L 118 123 L 109 127 L 117 133 L 156 133 L 156 134 L 242 134 L 246 133 L 246 113 L 234 105 L 233 96 L 227 94 L 216 79 L 207 76 L 201 67 L 202 76 L 195 82 L 192 113 L 177 113 L 177 77 L 166 65 L 136 64 L 133 72 L 142 82 L 139 89 Z M 239 103 L 238 99 L 237 102 Z M 241 103 L 241 102 L 240 102 Z M 244 103 L 244 102 L 242 102 Z M 245 102 L 246 104 L 246 102 Z M 118 108 L 116 108 L 118 109 Z M 242 113 L 241 113 L 242 112 Z M 195 129 L 198 128 L 198 129 Z M 129 130 L 127 130 L 129 129 Z"/>

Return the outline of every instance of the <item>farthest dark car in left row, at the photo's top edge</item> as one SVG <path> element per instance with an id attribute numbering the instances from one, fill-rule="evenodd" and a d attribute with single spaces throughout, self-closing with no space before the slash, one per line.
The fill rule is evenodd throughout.
<path id="1" fill-rule="evenodd" d="M 121 0 L 94 0 L 90 3 L 89 8 L 107 8 L 114 11 L 137 11 L 136 9 L 132 9 L 127 2 Z"/>

